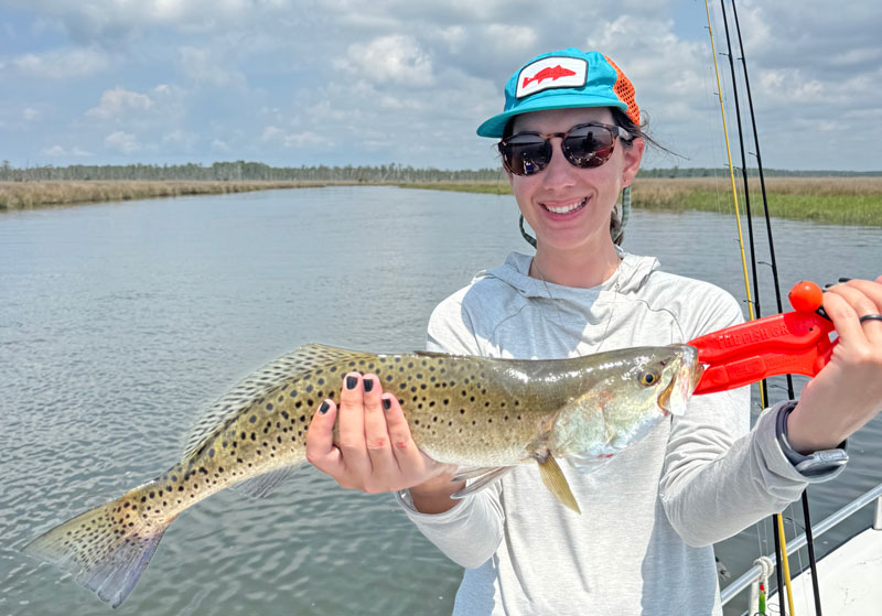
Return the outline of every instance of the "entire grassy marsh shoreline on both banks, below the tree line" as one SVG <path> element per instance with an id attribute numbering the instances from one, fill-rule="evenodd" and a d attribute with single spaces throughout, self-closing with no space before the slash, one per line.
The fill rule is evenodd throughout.
<path id="1" fill-rule="evenodd" d="M 739 188 L 741 181 L 738 181 Z M 66 205 L 122 202 L 324 186 L 378 186 L 510 195 L 508 182 L 278 182 L 278 181 L 46 181 L 0 182 L 0 213 Z M 777 218 L 832 225 L 882 227 L 882 177 L 771 177 L 766 180 L 770 214 Z M 634 209 L 700 210 L 732 214 L 728 177 L 637 177 L 632 195 Z M 756 179 L 751 183 L 753 214 L 762 215 Z M 739 195 L 739 208 L 746 201 Z"/>

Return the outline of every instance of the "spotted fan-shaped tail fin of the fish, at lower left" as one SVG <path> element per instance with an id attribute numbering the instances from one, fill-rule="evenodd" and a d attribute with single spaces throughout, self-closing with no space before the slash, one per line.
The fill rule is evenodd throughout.
<path id="1" fill-rule="evenodd" d="M 25 554 L 73 574 L 82 586 L 117 607 L 129 596 L 150 563 L 171 518 L 141 511 L 142 493 L 135 488 L 90 509 L 28 543 Z"/>

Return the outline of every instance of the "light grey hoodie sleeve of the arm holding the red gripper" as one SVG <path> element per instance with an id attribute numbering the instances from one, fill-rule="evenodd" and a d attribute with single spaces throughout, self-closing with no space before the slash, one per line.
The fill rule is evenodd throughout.
<path id="1" fill-rule="evenodd" d="M 688 339 L 743 321 L 728 294 L 704 296 Z M 696 396 L 671 422 L 659 494 L 671 526 L 690 545 L 731 537 L 799 498 L 805 477 L 781 451 L 776 412 L 750 430 L 750 387 Z"/>

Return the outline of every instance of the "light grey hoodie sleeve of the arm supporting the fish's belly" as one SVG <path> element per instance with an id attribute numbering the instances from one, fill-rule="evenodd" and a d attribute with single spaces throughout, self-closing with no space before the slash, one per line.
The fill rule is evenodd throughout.
<path id="1" fill-rule="evenodd" d="M 458 295 L 435 307 L 429 321 L 427 348 L 438 353 L 481 355 L 477 336 Z M 503 538 L 504 514 L 499 484 L 466 496 L 443 514 L 422 514 L 413 508 L 409 490 L 396 499 L 410 520 L 444 555 L 466 569 L 493 556 Z"/>

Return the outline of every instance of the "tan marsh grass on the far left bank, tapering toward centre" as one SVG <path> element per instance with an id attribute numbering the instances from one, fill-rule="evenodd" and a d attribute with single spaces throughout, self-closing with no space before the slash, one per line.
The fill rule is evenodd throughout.
<path id="1" fill-rule="evenodd" d="M 0 182 L 0 210 L 152 197 L 323 186 L 309 182 Z"/>

